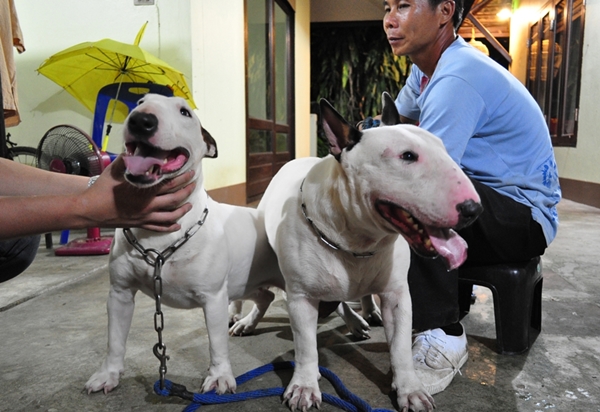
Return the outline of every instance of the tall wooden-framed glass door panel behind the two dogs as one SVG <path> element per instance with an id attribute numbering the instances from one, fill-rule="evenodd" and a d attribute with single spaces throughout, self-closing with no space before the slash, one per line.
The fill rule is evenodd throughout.
<path id="1" fill-rule="evenodd" d="M 294 156 L 293 22 L 285 1 L 246 0 L 249 202 Z"/>

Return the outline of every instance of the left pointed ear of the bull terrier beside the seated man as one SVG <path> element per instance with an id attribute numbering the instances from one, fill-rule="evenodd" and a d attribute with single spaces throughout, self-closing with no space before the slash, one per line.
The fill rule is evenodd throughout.
<path id="1" fill-rule="evenodd" d="M 352 148 L 360 142 L 362 133 L 348 123 L 325 99 L 319 102 L 321 109 L 321 125 L 327 141 L 329 142 L 329 153 L 340 160 L 342 150 Z"/>

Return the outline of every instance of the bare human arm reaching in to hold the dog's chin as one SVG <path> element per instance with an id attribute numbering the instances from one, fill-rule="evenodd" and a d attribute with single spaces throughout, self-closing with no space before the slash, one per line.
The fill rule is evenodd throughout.
<path id="1" fill-rule="evenodd" d="M 0 240 L 87 227 L 179 230 L 177 220 L 192 205 L 182 202 L 195 183 L 193 172 L 157 188 L 125 182 L 122 156 L 88 187 L 90 179 L 0 159 Z"/>

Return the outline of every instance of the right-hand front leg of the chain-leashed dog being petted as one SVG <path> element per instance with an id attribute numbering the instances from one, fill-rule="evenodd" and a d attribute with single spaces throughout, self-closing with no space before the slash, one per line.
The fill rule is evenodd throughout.
<path id="1" fill-rule="evenodd" d="M 216 389 L 219 395 L 225 392 L 235 393 L 236 383 L 229 363 L 229 335 L 227 333 L 227 297 L 226 286 L 216 293 L 211 293 L 203 307 L 208 346 L 210 352 L 210 367 L 208 376 L 202 384 L 202 392 Z"/>

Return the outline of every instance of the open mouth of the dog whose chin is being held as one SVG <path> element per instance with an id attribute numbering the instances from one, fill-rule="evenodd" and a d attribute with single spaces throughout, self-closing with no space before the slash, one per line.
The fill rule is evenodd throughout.
<path id="1" fill-rule="evenodd" d="M 142 142 L 130 142 L 125 147 L 127 149 L 127 155 L 124 157 L 127 179 L 140 184 L 151 184 L 163 176 L 176 173 L 190 157 L 189 152 L 183 148 L 162 150 Z"/>

